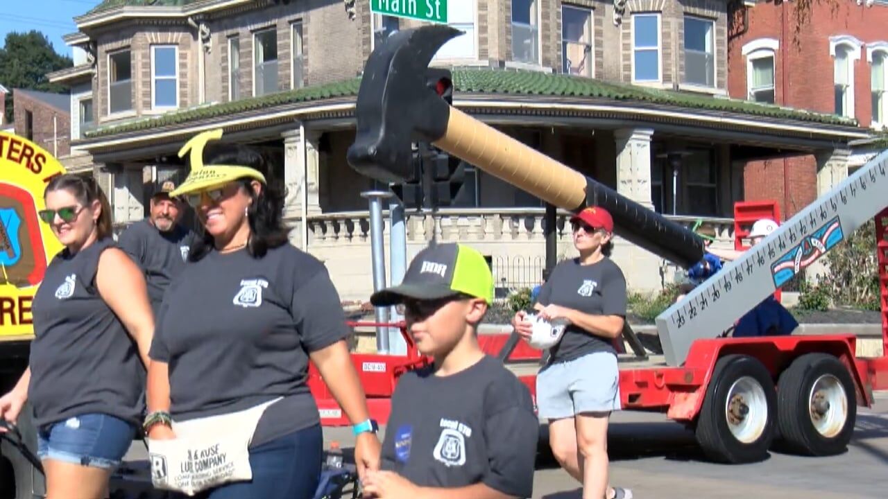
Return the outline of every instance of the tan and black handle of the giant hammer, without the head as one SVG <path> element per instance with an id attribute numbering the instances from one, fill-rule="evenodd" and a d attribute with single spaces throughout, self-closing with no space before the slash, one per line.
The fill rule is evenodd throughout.
<path id="1" fill-rule="evenodd" d="M 614 217 L 615 232 L 629 242 L 686 268 L 699 262 L 700 236 L 527 147 L 502 131 L 450 107 L 447 130 L 432 145 L 559 208 L 578 211 L 598 204 Z"/>

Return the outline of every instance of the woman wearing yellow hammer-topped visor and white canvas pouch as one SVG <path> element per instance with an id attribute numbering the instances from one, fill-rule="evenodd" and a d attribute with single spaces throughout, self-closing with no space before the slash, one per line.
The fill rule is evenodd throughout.
<path id="1" fill-rule="evenodd" d="M 152 440 L 197 438 L 204 418 L 258 409 L 248 428 L 218 436 L 249 439 L 252 479 L 221 477 L 201 496 L 312 497 L 322 435 L 306 384 L 308 361 L 355 425 L 361 476 L 378 468 L 376 424 L 327 269 L 289 244 L 284 195 L 268 177 L 264 155 L 217 145 L 207 147 L 204 164 L 204 143 L 219 137 L 211 131 L 189 141 L 183 150 L 191 149 L 191 172 L 171 194 L 190 198 L 203 230 L 158 313 L 148 371 L 149 448 Z"/>

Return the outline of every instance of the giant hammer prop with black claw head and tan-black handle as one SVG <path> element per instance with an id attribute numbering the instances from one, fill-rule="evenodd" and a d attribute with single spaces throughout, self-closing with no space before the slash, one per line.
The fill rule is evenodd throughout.
<path id="1" fill-rule="evenodd" d="M 694 232 L 449 106 L 427 87 L 432 56 L 461 33 L 444 25 L 407 29 L 370 54 L 347 154 L 354 170 L 402 182 L 413 171 L 411 142 L 429 142 L 561 209 L 601 206 L 613 216 L 616 234 L 678 265 L 701 261 L 703 240 Z"/>

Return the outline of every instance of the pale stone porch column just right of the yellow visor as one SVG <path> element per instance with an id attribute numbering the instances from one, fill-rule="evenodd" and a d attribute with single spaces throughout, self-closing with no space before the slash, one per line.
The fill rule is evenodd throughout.
<path id="1" fill-rule="evenodd" d="M 321 203 L 318 199 L 318 140 L 321 138 L 319 131 L 305 130 L 305 138 L 299 130 L 285 131 L 283 136 L 284 185 L 287 187 L 287 198 L 284 203 L 284 218 L 302 216 L 303 196 L 307 215 L 321 213 Z M 305 144 L 305 153 L 303 153 Z M 303 155 L 305 154 L 305 155 Z M 305 192 L 302 191 L 303 178 L 307 173 Z"/>

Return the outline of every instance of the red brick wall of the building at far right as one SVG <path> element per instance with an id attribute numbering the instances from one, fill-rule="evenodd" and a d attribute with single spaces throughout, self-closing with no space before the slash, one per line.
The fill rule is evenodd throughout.
<path id="1" fill-rule="evenodd" d="M 868 127 L 871 108 L 866 44 L 888 41 L 888 32 L 884 29 L 888 26 L 888 7 L 878 4 L 866 7 L 856 2 L 837 4 L 837 11 L 832 12 L 827 3 L 813 3 L 813 15 L 800 32 L 798 43 L 793 39 L 795 4 L 758 3 L 750 8 L 746 31 L 734 38 L 728 49 L 729 94 L 737 99 L 747 97 L 747 59 L 742 54 L 743 45 L 771 38 L 779 44 L 774 52 L 776 103 L 833 113 L 834 59 L 829 53 L 829 37 L 851 35 L 864 43 L 860 59 L 854 61 L 854 115 L 861 126 Z M 741 20 L 741 16 L 738 19 Z M 781 214 L 791 217 L 816 199 L 816 173 L 817 163 L 811 155 L 750 162 L 744 170 L 745 197 L 776 199 L 781 203 Z"/>

